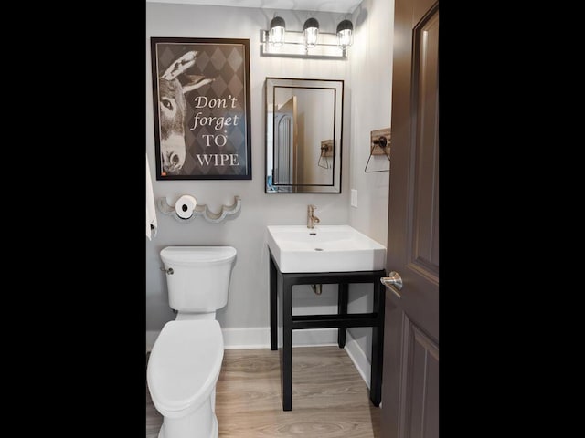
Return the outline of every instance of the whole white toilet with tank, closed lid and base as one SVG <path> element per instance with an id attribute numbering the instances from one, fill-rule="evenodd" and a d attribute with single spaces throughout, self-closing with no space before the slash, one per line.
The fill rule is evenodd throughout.
<path id="1" fill-rule="evenodd" d="M 163 415 L 158 438 L 217 438 L 223 337 L 216 310 L 228 303 L 236 249 L 167 246 L 160 255 L 177 314 L 154 342 L 146 371 L 154 407 Z"/>

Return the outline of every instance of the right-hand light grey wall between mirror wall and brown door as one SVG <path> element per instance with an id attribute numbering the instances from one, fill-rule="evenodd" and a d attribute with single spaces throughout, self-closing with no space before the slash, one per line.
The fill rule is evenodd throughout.
<path id="1" fill-rule="evenodd" d="M 357 207 L 349 206 L 349 224 L 387 245 L 389 169 L 386 156 L 369 157 L 370 132 L 390 126 L 394 0 L 364 0 L 352 16 L 350 189 Z M 367 164 L 367 172 L 366 170 Z M 388 248 L 387 251 L 391 250 Z M 350 285 L 350 312 L 371 311 L 372 286 Z M 371 328 L 351 328 L 361 351 L 370 359 Z"/>

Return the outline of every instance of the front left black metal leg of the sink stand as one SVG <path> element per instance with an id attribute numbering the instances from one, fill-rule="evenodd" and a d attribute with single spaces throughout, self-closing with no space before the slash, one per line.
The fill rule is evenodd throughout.
<path id="1" fill-rule="evenodd" d="M 293 411 L 293 285 L 286 281 L 282 281 L 281 373 L 282 410 Z"/>

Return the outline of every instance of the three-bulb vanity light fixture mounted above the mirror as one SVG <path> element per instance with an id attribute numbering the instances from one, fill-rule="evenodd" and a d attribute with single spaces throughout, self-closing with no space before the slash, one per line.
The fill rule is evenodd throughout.
<path id="1" fill-rule="evenodd" d="M 344 19 L 333 32 L 322 32 L 316 18 L 308 18 L 303 31 L 286 29 L 284 18 L 275 15 L 268 30 L 261 30 L 262 57 L 303 57 L 310 59 L 347 59 L 353 42 L 354 26 Z"/>

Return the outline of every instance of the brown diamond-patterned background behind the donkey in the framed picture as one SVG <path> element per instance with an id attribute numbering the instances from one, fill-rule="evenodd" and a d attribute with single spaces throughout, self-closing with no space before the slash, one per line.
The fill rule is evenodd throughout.
<path id="1" fill-rule="evenodd" d="M 246 92 L 249 71 L 246 70 L 245 63 L 248 47 L 240 43 L 204 43 L 196 40 L 157 42 L 155 47 L 155 62 L 159 76 L 176 58 L 188 51 L 197 50 L 195 66 L 186 70 L 185 73 L 214 79 L 210 84 L 186 94 L 186 162 L 181 172 L 170 178 L 244 179 L 246 175 L 251 175 L 251 142 L 246 129 L 249 123 L 246 109 L 250 105 Z M 197 97 L 203 96 L 207 98 L 207 106 L 197 108 Z M 234 98 L 235 106 L 232 108 Z M 205 99 L 198 101 L 203 102 Z M 195 126 L 196 117 L 197 126 Z M 222 117 L 224 120 L 231 118 L 231 124 L 219 127 L 216 124 L 217 118 Z M 206 138 L 207 135 L 213 137 Z M 213 141 L 214 138 L 217 142 Z M 156 141 L 158 142 L 158 139 Z M 221 158 L 216 160 L 215 154 L 227 154 L 230 160 L 239 164 L 229 165 L 229 161 L 225 161 L 224 165 L 221 165 Z M 208 165 L 206 161 L 211 162 L 211 165 Z M 218 165 L 215 165 L 216 162 Z"/>

